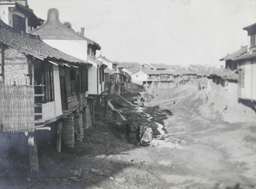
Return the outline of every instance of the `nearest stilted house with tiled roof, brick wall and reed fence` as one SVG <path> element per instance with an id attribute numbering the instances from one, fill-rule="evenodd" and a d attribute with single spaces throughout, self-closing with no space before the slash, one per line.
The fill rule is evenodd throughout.
<path id="1" fill-rule="evenodd" d="M 32 134 L 51 130 L 49 135 L 54 135 L 58 151 L 61 131 L 67 146 L 73 146 L 75 138 L 81 140 L 83 101 L 77 92 L 85 93 L 83 71 L 91 65 L 52 48 L 36 36 L 7 26 L 2 20 L 0 46 L 0 131 Z M 33 158 L 37 159 L 36 140 L 33 135 L 28 140 L 30 149 L 34 149 Z M 38 164 L 32 164 L 32 169 L 38 170 Z"/>

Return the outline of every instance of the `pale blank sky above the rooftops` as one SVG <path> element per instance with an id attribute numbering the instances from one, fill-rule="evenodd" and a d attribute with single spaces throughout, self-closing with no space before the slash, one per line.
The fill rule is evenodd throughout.
<path id="1" fill-rule="evenodd" d="M 62 23 L 99 43 L 109 60 L 167 65 L 219 66 L 247 45 L 242 28 L 256 22 L 256 0 L 27 0 L 47 20 L 50 8 Z"/>

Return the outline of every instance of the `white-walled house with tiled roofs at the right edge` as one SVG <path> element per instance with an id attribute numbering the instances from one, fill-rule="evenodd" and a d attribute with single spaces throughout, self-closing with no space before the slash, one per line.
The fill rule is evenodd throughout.
<path id="1" fill-rule="evenodd" d="M 247 31 L 247 46 L 224 56 L 225 61 L 223 73 L 213 74 L 215 81 L 228 81 L 237 84 L 235 94 L 240 100 L 256 101 L 256 23 L 244 27 Z M 223 82 L 224 83 L 224 82 Z"/>

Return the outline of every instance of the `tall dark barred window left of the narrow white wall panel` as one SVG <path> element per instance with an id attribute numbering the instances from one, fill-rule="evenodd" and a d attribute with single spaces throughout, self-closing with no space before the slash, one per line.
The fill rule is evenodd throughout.
<path id="1" fill-rule="evenodd" d="M 54 94 L 54 80 L 53 80 L 53 66 L 52 64 L 44 64 L 44 101 L 52 101 L 55 99 Z"/>

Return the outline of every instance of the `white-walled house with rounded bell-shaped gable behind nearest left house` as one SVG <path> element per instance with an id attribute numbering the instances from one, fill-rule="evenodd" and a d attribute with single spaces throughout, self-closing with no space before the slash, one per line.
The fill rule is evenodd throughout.
<path id="1" fill-rule="evenodd" d="M 83 28 L 78 33 L 73 31 L 70 23 L 66 22 L 62 24 L 59 20 L 59 11 L 57 9 L 49 9 L 48 18 L 44 25 L 38 27 L 31 33 L 38 35 L 45 43 L 48 43 L 52 47 L 89 62 L 92 65 L 88 68 L 88 75 L 83 78 L 83 83 L 88 83 L 88 86 L 86 86 L 88 91 L 81 95 L 79 99 L 88 100 L 91 116 L 94 117 L 95 108 L 100 107 L 102 94 L 105 91 L 104 69 L 107 66 L 96 60 L 96 50 L 100 50 L 101 46 L 89 38 L 84 37 Z M 74 76 L 76 77 L 76 75 Z M 86 106 L 84 105 L 83 108 L 86 108 Z"/>

